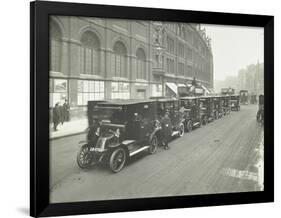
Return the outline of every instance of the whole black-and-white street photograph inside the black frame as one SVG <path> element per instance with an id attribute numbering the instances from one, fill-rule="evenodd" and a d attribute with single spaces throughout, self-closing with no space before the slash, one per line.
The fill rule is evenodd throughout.
<path id="1" fill-rule="evenodd" d="M 50 202 L 264 190 L 264 28 L 49 17 Z"/>

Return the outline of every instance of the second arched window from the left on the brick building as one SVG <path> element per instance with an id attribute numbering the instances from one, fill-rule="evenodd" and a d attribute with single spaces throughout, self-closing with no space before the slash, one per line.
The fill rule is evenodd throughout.
<path id="1" fill-rule="evenodd" d="M 99 74 L 100 72 L 100 42 L 96 34 L 86 31 L 81 38 L 81 60 L 83 74 Z"/>

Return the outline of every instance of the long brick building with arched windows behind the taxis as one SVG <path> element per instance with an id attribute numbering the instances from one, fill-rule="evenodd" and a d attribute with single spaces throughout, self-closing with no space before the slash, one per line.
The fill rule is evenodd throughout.
<path id="1" fill-rule="evenodd" d="M 67 99 L 74 116 L 88 100 L 165 96 L 193 78 L 213 87 L 200 25 L 52 16 L 49 60 L 50 108 Z"/>

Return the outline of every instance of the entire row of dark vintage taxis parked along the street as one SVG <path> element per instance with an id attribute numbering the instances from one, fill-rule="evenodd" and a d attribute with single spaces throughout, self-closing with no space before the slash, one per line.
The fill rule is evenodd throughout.
<path id="1" fill-rule="evenodd" d="M 140 152 L 154 154 L 160 146 L 162 118 L 171 120 L 171 138 L 239 111 L 239 95 L 89 101 L 89 128 L 77 154 L 81 168 L 105 163 L 112 172 Z"/>

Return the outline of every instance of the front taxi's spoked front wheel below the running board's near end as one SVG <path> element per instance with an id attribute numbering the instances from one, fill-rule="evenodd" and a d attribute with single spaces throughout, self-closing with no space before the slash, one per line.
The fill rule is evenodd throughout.
<path id="1" fill-rule="evenodd" d="M 126 151 L 124 148 L 115 149 L 109 159 L 109 167 L 112 172 L 118 173 L 121 171 L 126 162 Z"/>

